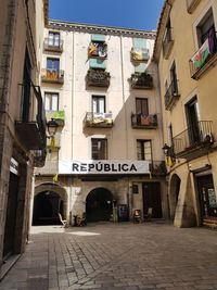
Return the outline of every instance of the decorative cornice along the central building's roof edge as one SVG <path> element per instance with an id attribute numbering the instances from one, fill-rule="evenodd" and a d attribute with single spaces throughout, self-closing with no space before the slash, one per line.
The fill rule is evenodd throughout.
<path id="1" fill-rule="evenodd" d="M 128 29 L 122 27 L 90 25 L 80 23 L 69 23 L 63 21 L 49 21 L 48 28 L 66 30 L 66 31 L 87 33 L 87 34 L 105 34 L 105 35 L 138 37 L 138 38 L 144 37 L 148 39 L 155 39 L 156 36 L 156 31 L 137 30 L 137 29 Z"/>

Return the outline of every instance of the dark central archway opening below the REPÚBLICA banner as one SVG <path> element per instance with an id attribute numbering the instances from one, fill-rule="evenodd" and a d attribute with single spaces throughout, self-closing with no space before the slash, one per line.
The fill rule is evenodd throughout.
<path id="1" fill-rule="evenodd" d="M 110 220 L 113 210 L 113 194 L 105 188 L 95 188 L 87 197 L 88 222 Z"/>

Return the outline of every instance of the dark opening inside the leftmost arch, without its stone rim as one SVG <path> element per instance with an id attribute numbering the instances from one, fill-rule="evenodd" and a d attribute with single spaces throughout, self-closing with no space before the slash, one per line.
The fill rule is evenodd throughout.
<path id="1" fill-rule="evenodd" d="M 33 225 L 59 225 L 63 216 L 63 200 L 54 191 L 42 191 L 34 199 Z"/>

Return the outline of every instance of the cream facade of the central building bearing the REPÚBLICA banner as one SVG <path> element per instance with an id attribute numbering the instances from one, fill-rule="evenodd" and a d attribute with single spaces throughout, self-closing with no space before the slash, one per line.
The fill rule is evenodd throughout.
<path id="1" fill-rule="evenodd" d="M 41 90 L 58 131 L 36 171 L 33 224 L 168 217 L 155 33 L 51 21 Z"/>

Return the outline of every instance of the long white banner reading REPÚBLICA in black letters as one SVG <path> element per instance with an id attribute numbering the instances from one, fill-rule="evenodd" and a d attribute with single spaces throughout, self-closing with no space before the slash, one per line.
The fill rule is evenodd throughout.
<path id="1" fill-rule="evenodd" d="M 60 161 L 60 174 L 149 174 L 148 161 Z"/>

